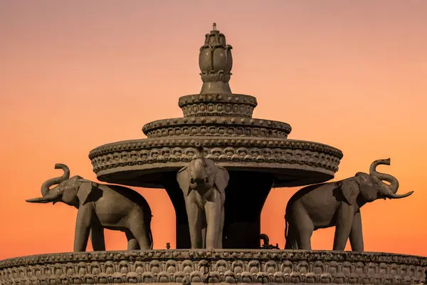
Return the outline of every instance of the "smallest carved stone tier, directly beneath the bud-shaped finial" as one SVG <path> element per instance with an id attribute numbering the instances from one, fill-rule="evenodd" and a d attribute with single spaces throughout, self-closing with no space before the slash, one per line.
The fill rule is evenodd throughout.
<path id="1" fill-rule="evenodd" d="M 243 94 L 196 94 L 182 96 L 178 100 L 184 117 L 221 115 L 251 118 L 257 104 L 255 97 Z"/>

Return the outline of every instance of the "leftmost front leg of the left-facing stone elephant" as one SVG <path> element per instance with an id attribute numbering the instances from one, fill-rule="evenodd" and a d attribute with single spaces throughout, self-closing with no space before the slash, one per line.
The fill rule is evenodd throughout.
<path id="1" fill-rule="evenodd" d="M 92 214 L 93 208 L 90 204 L 80 206 L 78 209 L 75 222 L 74 252 L 85 252 L 88 247 Z"/>

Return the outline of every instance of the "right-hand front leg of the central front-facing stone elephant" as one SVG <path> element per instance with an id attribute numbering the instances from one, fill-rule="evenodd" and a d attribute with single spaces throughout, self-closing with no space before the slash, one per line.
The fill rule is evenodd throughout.
<path id="1" fill-rule="evenodd" d="M 214 199 L 213 202 L 206 201 L 206 249 L 216 249 L 218 247 L 218 234 L 221 226 L 221 208 L 220 199 Z"/>

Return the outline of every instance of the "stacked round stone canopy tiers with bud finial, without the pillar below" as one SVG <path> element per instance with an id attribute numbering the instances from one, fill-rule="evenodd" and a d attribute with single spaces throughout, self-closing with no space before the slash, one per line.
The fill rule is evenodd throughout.
<path id="1" fill-rule="evenodd" d="M 200 48 L 199 67 L 201 92 L 179 98 L 183 118 L 155 120 L 142 128 L 145 139 L 112 142 L 90 152 L 98 180 L 164 188 L 164 175 L 184 167 L 196 154 L 198 141 L 206 157 L 228 171 L 268 172 L 275 187 L 334 177 L 342 159 L 340 150 L 288 139 L 289 124 L 252 118 L 256 98 L 231 93 L 231 46 L 215 26 Z"/>

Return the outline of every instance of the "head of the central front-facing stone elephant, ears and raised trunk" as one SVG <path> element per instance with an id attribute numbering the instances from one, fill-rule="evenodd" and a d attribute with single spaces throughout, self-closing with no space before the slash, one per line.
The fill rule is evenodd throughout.
<path id="1" fill-rule="evenodd" d="M 205 192 L 216 187 L 223 192 L 228 185 L 228 172 L 223 167 L 218 167 L 212 160 L 204 157 L 204 147 L 201 143 L 196 144 L 196 158 L 189 165 L 179 170 L 177 180 L 179 187 L 186 195 L 191 190 Z"/>

